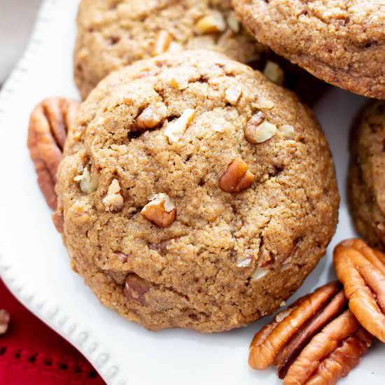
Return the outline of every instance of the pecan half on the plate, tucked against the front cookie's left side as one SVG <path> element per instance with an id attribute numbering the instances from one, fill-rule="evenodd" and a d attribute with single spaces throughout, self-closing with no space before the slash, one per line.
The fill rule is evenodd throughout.
<path id="1" fill-rule="evenodd" d="M 78 105 L 63 97 L 51 97 L 38 104 L 29 118 L 27 146 L 38 175 L 38 186 L 53 210 L 57 207 L 56 172 Z"/>

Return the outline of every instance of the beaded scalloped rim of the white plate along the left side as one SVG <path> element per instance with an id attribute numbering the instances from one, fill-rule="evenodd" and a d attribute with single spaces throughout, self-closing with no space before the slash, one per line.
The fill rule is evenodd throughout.
<path id="1" fill-rule="evenodd" d="M 0 92 L 0 127 L 5 126 L 3 125 L 3 119 L 6 115 L 8 102 L 13 97 L 13 94 L 15 94 L 15 87 L 28 76 L 29 62 L 39 53 L 39 48 L 44 38 L 45 26 L 50 23 L 50 13 L 55 11 L 57 5 L 62 3 L 62 1 L 65 0 L 43 0 L 38 9 L 27 48 L 13 71 L 6 78 Z M 90 332 L 82 328 L 82 325 L 73 320 L 71 316 L 65 314 L 57 304 L 48 302 L 42 297 L 37 297 L 33 290 L 26 288 L 23 283 L 18 281 L 17 277 L 13 275 L 12 270 L 13 265 L 10 262 L 10 258 L 6 260 L 6 256 L 0 252 L 0 276 L 10 292 L 43 323 L 55 330 L 55 332 L 83 353 L 107 384 L 128 384 L 127 379 L 118 378 L 118 365 L 109 362 L 111 361 L 109 353 L 106 353 L 106 349 L 103 349 L 102 344 L 92 337 Z"/>

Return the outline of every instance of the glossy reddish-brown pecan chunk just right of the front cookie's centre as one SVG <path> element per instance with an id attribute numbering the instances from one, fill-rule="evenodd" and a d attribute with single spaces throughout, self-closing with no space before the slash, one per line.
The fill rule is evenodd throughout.
<path id="1" fill-rule="evenodd" d="M 237 157 L 219 179 L 219 187 L 226 193 L 240 193 L 249 188 L 253 181 L 254 174 L 248 171 L 247 163 Z"/>

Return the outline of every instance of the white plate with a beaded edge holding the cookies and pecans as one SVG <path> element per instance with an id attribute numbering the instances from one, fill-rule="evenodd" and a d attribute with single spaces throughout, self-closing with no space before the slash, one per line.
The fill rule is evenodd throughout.
<path id="1" fill-rule="evenodd" d="M 38 189 L 26 141 L 29 113 L 41 99 L 78 98 L 72 80 L 77 5 L 78 0 L 45 1 L 29 48 L 0 94 L 1 277 L 25 306 L 82 351 L 109 384 L 280 384 L 274 370 L 257 372 L 247 365 L 248 344 L 269 318 L 215 335 L 149 332 L 102 307 L 71 272 Z M 337 164 L 342 204 L 327 256 L 295 297 L 335 278 L 332 247 L 354 235 L 346 209 L 346 139 L 363 101 L 332 89 L 316 107 Z M 341 384 L 384 384 L 384 363 L 385 346 L 377 343 Z"/>

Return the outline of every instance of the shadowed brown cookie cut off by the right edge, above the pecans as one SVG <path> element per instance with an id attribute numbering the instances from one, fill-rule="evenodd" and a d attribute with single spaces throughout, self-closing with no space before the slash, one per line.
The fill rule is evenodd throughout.
<path id="1" fill-rule="evenodd" d="M 385 101 L 371 101 L 351 131 L 349 201 L 360 235 L 385 250 Z"/>

